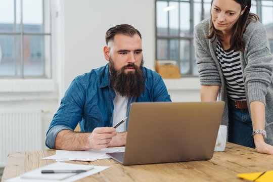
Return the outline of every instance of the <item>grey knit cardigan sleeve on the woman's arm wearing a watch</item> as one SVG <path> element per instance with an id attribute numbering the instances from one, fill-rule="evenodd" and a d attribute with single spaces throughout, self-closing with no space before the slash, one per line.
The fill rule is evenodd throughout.
<path id="1" fill-rule="evenodd" d="M 273 57 L 270 53 L 266 30 L 261 23 L 252 22 L 248 25 L 243 38 L 246 42 L 246 67 L 243 78 L 248 88 L 249 102 L 260 101 L 265 104 L 267 87 L 272 81 L 273 71 Z"/>

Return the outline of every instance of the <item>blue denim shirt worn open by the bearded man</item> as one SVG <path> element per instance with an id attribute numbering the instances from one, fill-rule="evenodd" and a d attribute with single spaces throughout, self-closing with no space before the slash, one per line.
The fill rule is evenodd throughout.
<path id="1" fill-rule="evenodd" d="M 128 98 L 126 116 L 133 102 L 171 101 L 161 76 L 145 67 L 143 72 L 146 76 L 145 92 L 140 97 Z M 78 123 L 82 132 L 112 126 L 115 96 L 110 86 L 108 64 L 77 76 L 66 90 L 61 106 L 53 117 L 45 145 L 54 149 L 58 132 L 64 129 L 74 130 Z"/>

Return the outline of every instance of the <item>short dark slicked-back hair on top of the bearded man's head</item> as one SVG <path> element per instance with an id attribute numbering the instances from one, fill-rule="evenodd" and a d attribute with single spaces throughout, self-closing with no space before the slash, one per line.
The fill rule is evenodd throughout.
<path id="1" fill-rule="evenodd" d="M 139 30 L 135 29 L 131 25 L 122 24 L 122 25 L 113 26 L 113 27 L 109 28 L 109 30 L 107 30 L 107 32 L 105 34 L 106 45 L 108 45 L 109 41 L 114 39 L 116 34 L 124 34 L 124 35 L 128 35 L 128 36 L 132 37 L 136 33 L 139 34 L 139 36 L 141 38 L 141 33 L 139 32 Z"/>

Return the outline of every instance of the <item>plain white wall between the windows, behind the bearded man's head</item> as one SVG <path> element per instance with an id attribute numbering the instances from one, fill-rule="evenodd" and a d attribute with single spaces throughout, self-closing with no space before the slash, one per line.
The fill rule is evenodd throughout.
<path id="1" fill-rule="evenodd" d="M 145 66 L 155 60 L 155 5 L 153 0 L 65 0 L 64 87 L 79 74 L 104 66 L 105 32 L 118 24 L 130 24 L 143 37 Z"/>

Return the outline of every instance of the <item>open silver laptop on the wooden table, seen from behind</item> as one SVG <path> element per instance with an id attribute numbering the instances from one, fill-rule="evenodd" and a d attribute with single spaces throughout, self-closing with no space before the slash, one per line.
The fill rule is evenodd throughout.
<path id="1" fill-rule="evenodd" d="M 213 156 L 224 102 L 146 102 L 131 105 L 124 164 L 208 160 Z"/>

